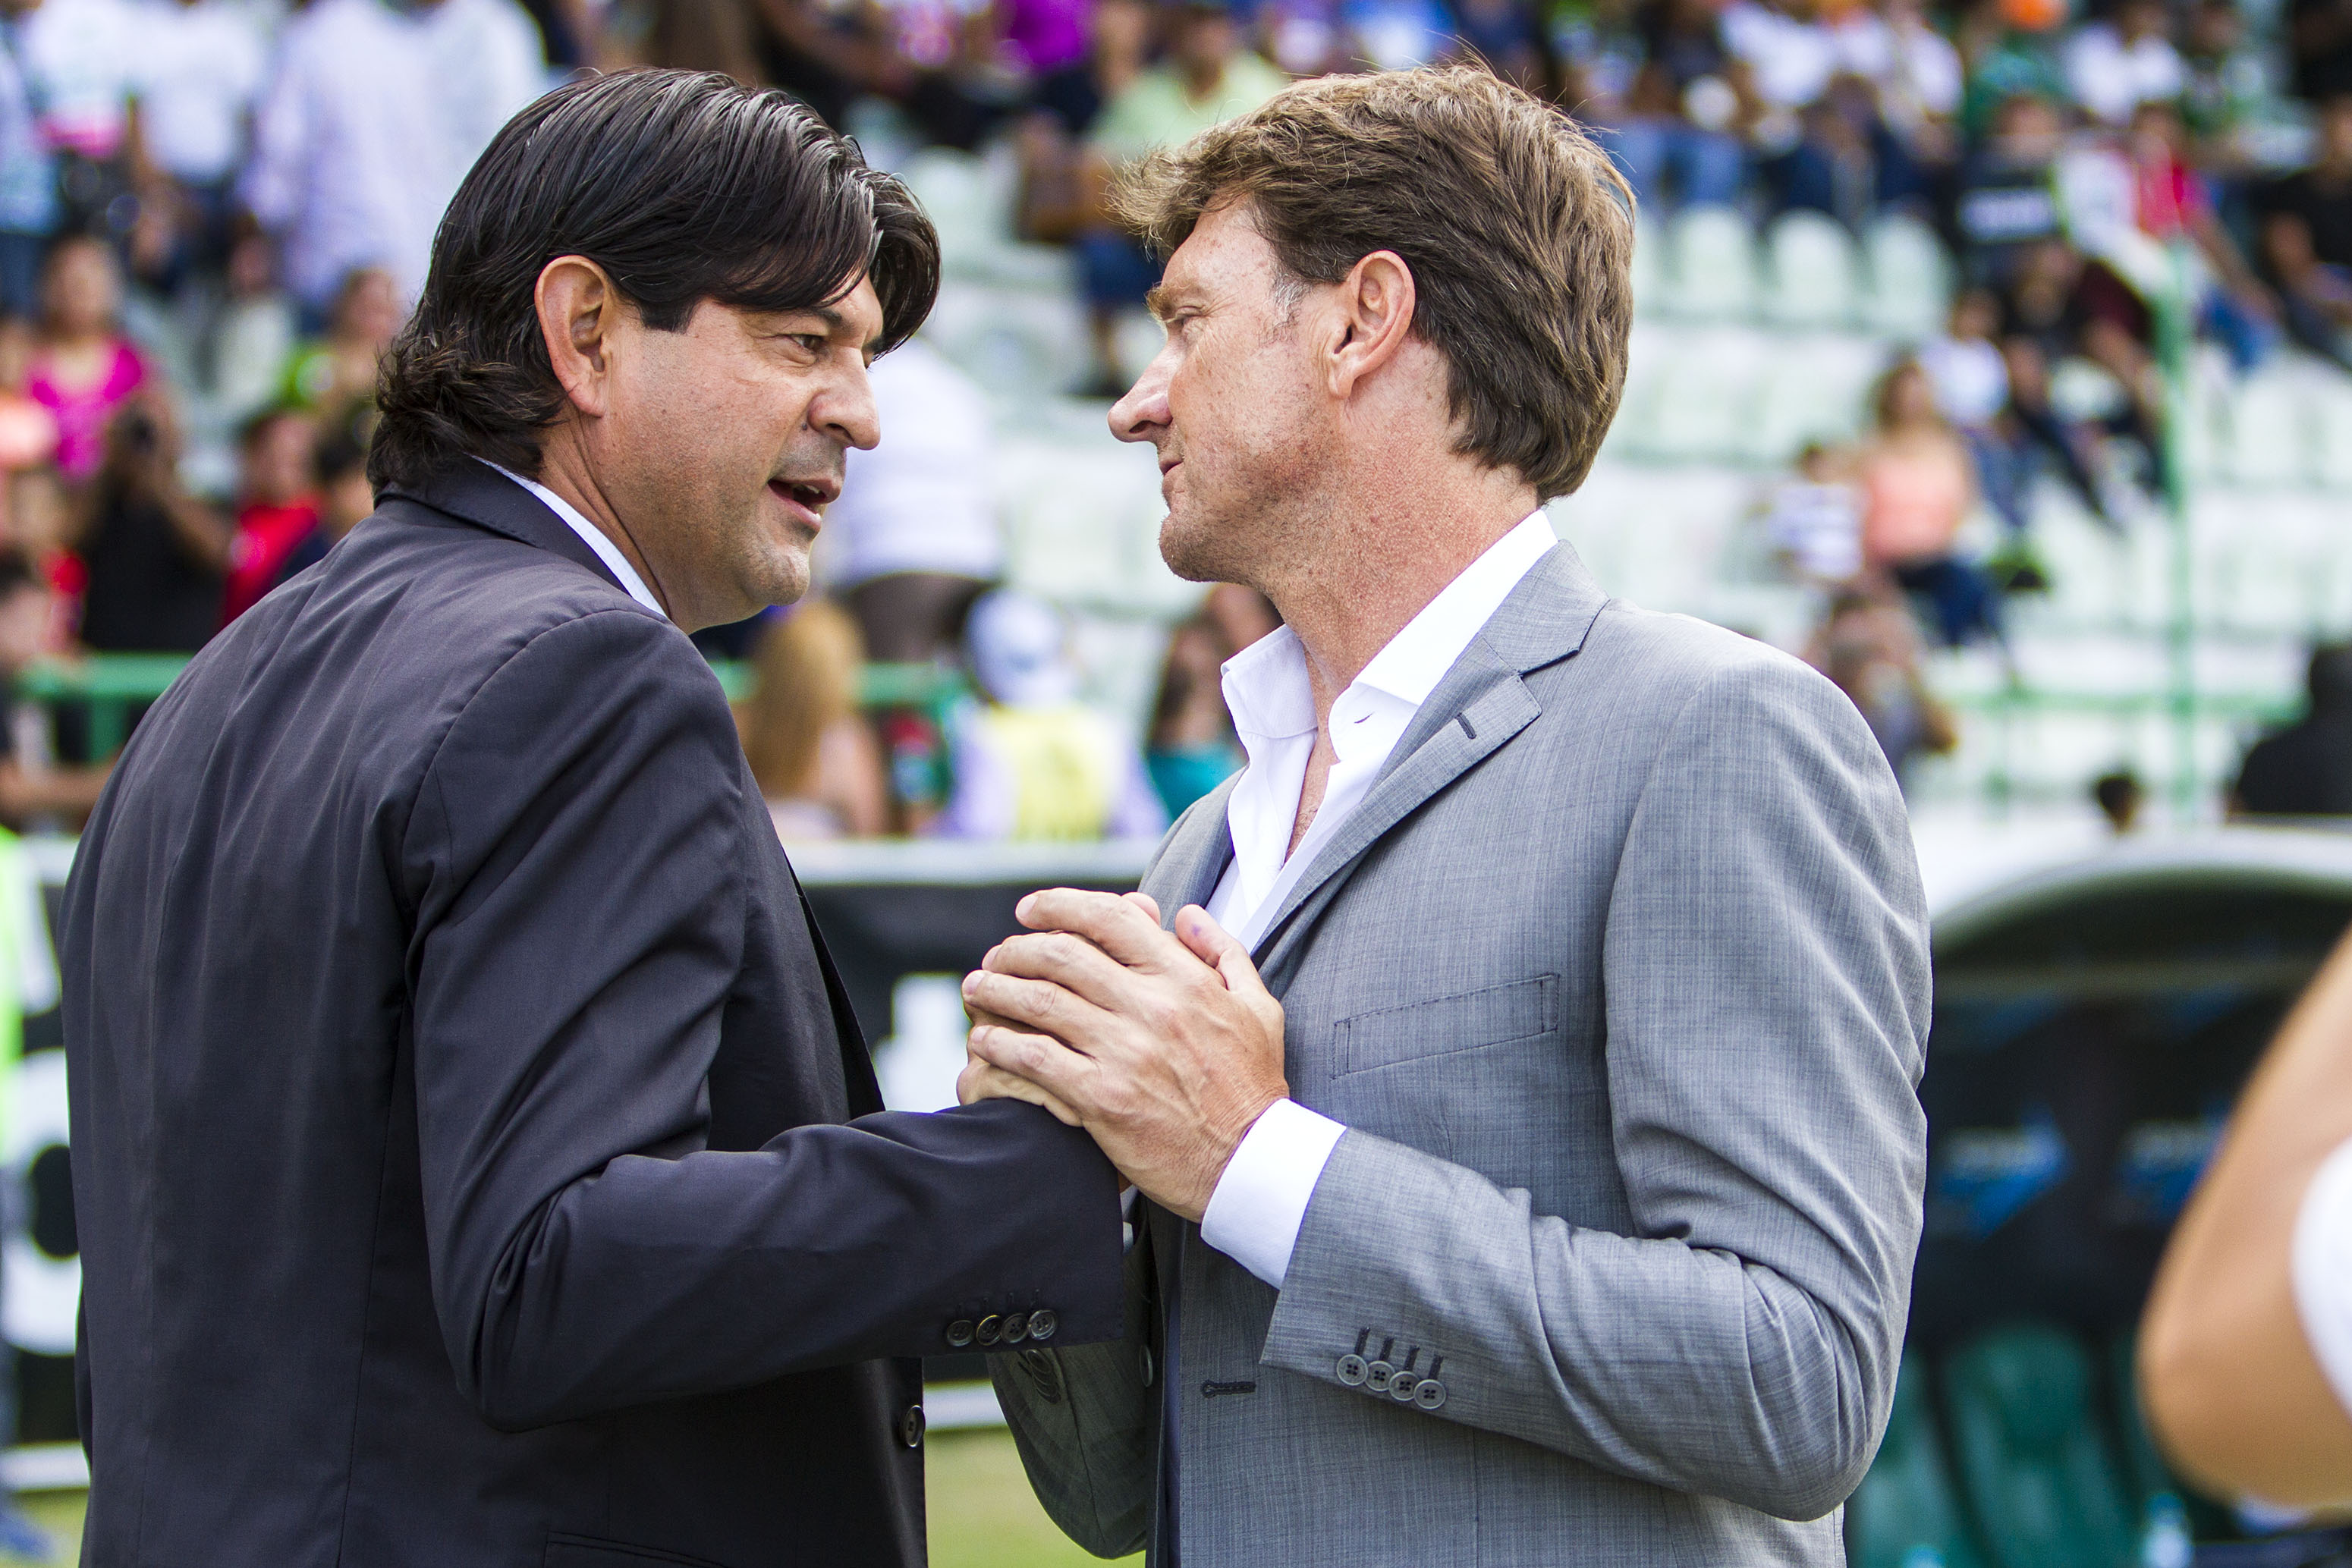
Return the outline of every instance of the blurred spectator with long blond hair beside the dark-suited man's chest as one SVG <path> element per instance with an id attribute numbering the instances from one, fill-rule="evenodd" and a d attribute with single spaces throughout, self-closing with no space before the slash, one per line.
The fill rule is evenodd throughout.
<path id="1" fill-rule="evenodd" d="M 760 637 L 757 684 L 736 724 L 788 842 L 870 839 L 889 820 L 882 755 L 858 717 L 861 665 L 856 623 L 826 599 L 774 616 Z"/>

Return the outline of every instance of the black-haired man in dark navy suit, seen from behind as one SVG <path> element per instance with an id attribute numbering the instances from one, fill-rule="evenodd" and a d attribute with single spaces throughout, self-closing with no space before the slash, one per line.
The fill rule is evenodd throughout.
<path id="1" fill-rule="evenodd" d="M 715 75 L 466 179 L 376 512 L 66 889 L 92 1568 L 920 1563 L 917 1356 L 1120 1331 L 1082 1133 L 882 1112 L 687 639 L 802 592 L 936 254 Z"/>

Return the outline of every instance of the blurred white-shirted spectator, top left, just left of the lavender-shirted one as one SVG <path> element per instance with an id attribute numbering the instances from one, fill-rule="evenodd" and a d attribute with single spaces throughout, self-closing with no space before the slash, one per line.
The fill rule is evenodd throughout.
<path id="1" fill-rule="evenodd" d="M 228 256 L 245 134 L 268 71 L 261 19 L 242 0 L 134 0 L 139 139 L 172 235 L 167 277 Z"/>

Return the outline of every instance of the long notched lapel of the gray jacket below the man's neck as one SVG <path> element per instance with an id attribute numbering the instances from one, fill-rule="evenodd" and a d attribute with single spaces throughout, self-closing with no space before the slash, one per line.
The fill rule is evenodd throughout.
<path id="1" fill-rule="evenodd" d="M 1258 938 L 1272 973 L 1388 830 L 1526 729 L 1543 705 L 1519 679 L 1573 656 L 1609 595 L 1566 543 L 1538 559 L 1406 724 L 1378 778 L 1275 907 Z"/>

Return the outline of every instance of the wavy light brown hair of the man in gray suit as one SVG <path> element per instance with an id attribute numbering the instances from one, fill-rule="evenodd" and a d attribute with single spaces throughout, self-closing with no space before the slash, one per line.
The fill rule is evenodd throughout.
<path id="1" fill-rule="evenodd" d="M 1162 256 L 1228 202 L 1303 284 L 1402 256 L 1414 334 L 1446 357 L 1456 451 L 1545 501 L 1585 482 L 1625 393 L 1632 190 L 1573 120 L 1475 66 L 1327 75 L 1112 190 Z"/>

